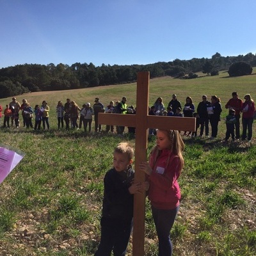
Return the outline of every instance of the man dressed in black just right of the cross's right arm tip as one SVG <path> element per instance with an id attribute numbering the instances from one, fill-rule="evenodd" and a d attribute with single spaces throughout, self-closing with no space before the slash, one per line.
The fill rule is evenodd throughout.
<path id="1" fill-rule="evenodd" d="M 210 108 L 211 102 L 207 100 L 207 96 L 202 96 L 202 101 L 197 106 L 197 113 L 200 118 L 200 137 L 204 134 L 205 129 L 205 136 L 209 136 L 209 115 L 207 112 L 207 108 Z"/>

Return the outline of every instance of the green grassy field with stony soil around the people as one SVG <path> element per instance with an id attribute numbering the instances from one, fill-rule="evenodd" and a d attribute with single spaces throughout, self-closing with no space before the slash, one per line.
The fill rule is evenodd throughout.
<path id="1" fill-rule="evenodd" d="M 150 80 L 150 102 L 172 94 L 184 106 L 191 96 L 195 106 L 202 95 L 217 95 L 223 112 L 217 140 L 185 138 L 185 166 L 179 183 L 180 211 L 172 229 L 173 255 L 256 255 L 256 125 L 252 143 L 223 143 L 225 104 L 236 91 L 256 99 L 256 69 L 251 76 L 204 76 L 180 80 Z M 0 129 L 0 144 L 24 152 L 24 159 L 0 184 L 0 255 L 91 256 L 100 239 L 103 178 L 112 165 L 113 148 L 120 141 L 134 145 L 125 134 L 84 134 L 83 129 L 57 129 L 56 104 L 69 97 L 79 106 L 95 97 L 106 106 L 127 97 L 136 106 L 136 84 L 100 86 L 60 92 L 18 95 L 31 106 L 47 100 L 50 130 Z M 12 99 L 0 99 L 2 107 Z M 3 125 L 3 118 L 0 120 Z M 211 128 L 210 128 L 211 131 Z M 148 141 L 148 150 L 154 146 Z M 136 161 L 136 159 L 135 159 Z M 132 237 L 131 237 L 132 243 Z M 129 244 L 127 255 L 132 255 Z M 146 201 L 145 256 L 157 255 L 157 236 Z"/>

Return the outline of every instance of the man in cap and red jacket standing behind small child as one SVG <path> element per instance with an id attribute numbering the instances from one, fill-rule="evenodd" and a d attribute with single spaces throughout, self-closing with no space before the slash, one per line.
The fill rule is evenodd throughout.
<path id="1" fill-rule="evenodd" d="M 243 109 L 243 100 L 239 99 L 237 92 L 232 92 L 232 98 L 228 100 L 227 104 L 225 105 L 227 109 L 234 109 L 236 111 L 236 140 L 240 138 L 240 113 Z"/>

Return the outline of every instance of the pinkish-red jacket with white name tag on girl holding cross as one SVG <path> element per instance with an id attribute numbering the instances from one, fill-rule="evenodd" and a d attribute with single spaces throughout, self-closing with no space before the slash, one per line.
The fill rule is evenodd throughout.
<path id="1" fill-rule="evenodd" d="M 148 177 L 150 182 L 148 198 L 157 209 L 175 209 L 180 200 L 180 188 L 177 182 L 180 159 L 170 150 L 162 150 L 154 164 L 155 157 L 156 152 L 150 154 L 149 164 L 153 172 Z"/>

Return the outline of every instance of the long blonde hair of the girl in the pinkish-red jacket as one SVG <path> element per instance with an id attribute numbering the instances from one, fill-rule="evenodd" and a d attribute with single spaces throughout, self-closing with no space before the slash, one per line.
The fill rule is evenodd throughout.
<path id="1" fill-rule="evenodd" d="M 172 142 L 169 149 L 170 149 L 170 152 L 172 152 L 174 155 L 178 156 L 180 159 L 180 170 L 179 170 L 179 174 L 180 174 L 180 172 L 184 166 L 184 159 L 182 156 L 182 151 L 184 150 L 185 145 L 180 136 L 179 131 L 174 131 L 174 130 L 157 130 L 157 131 L 161 131 L 164 134 L 166 134 L 168 139 Z M 157 146 L 155 146 L 152 149 L 151 154 L 154 152 L 156 152 L 156 157 L 154 159 L 154 164 L 155 164 L 157 161 L 157 157 L 160 154 L 160 150 L 157 148 Z M 168 166 L 169 161 L 170 161 L 170 154 L 168 156 L 168 160 L 166 161 L 166 166 Z"/>

